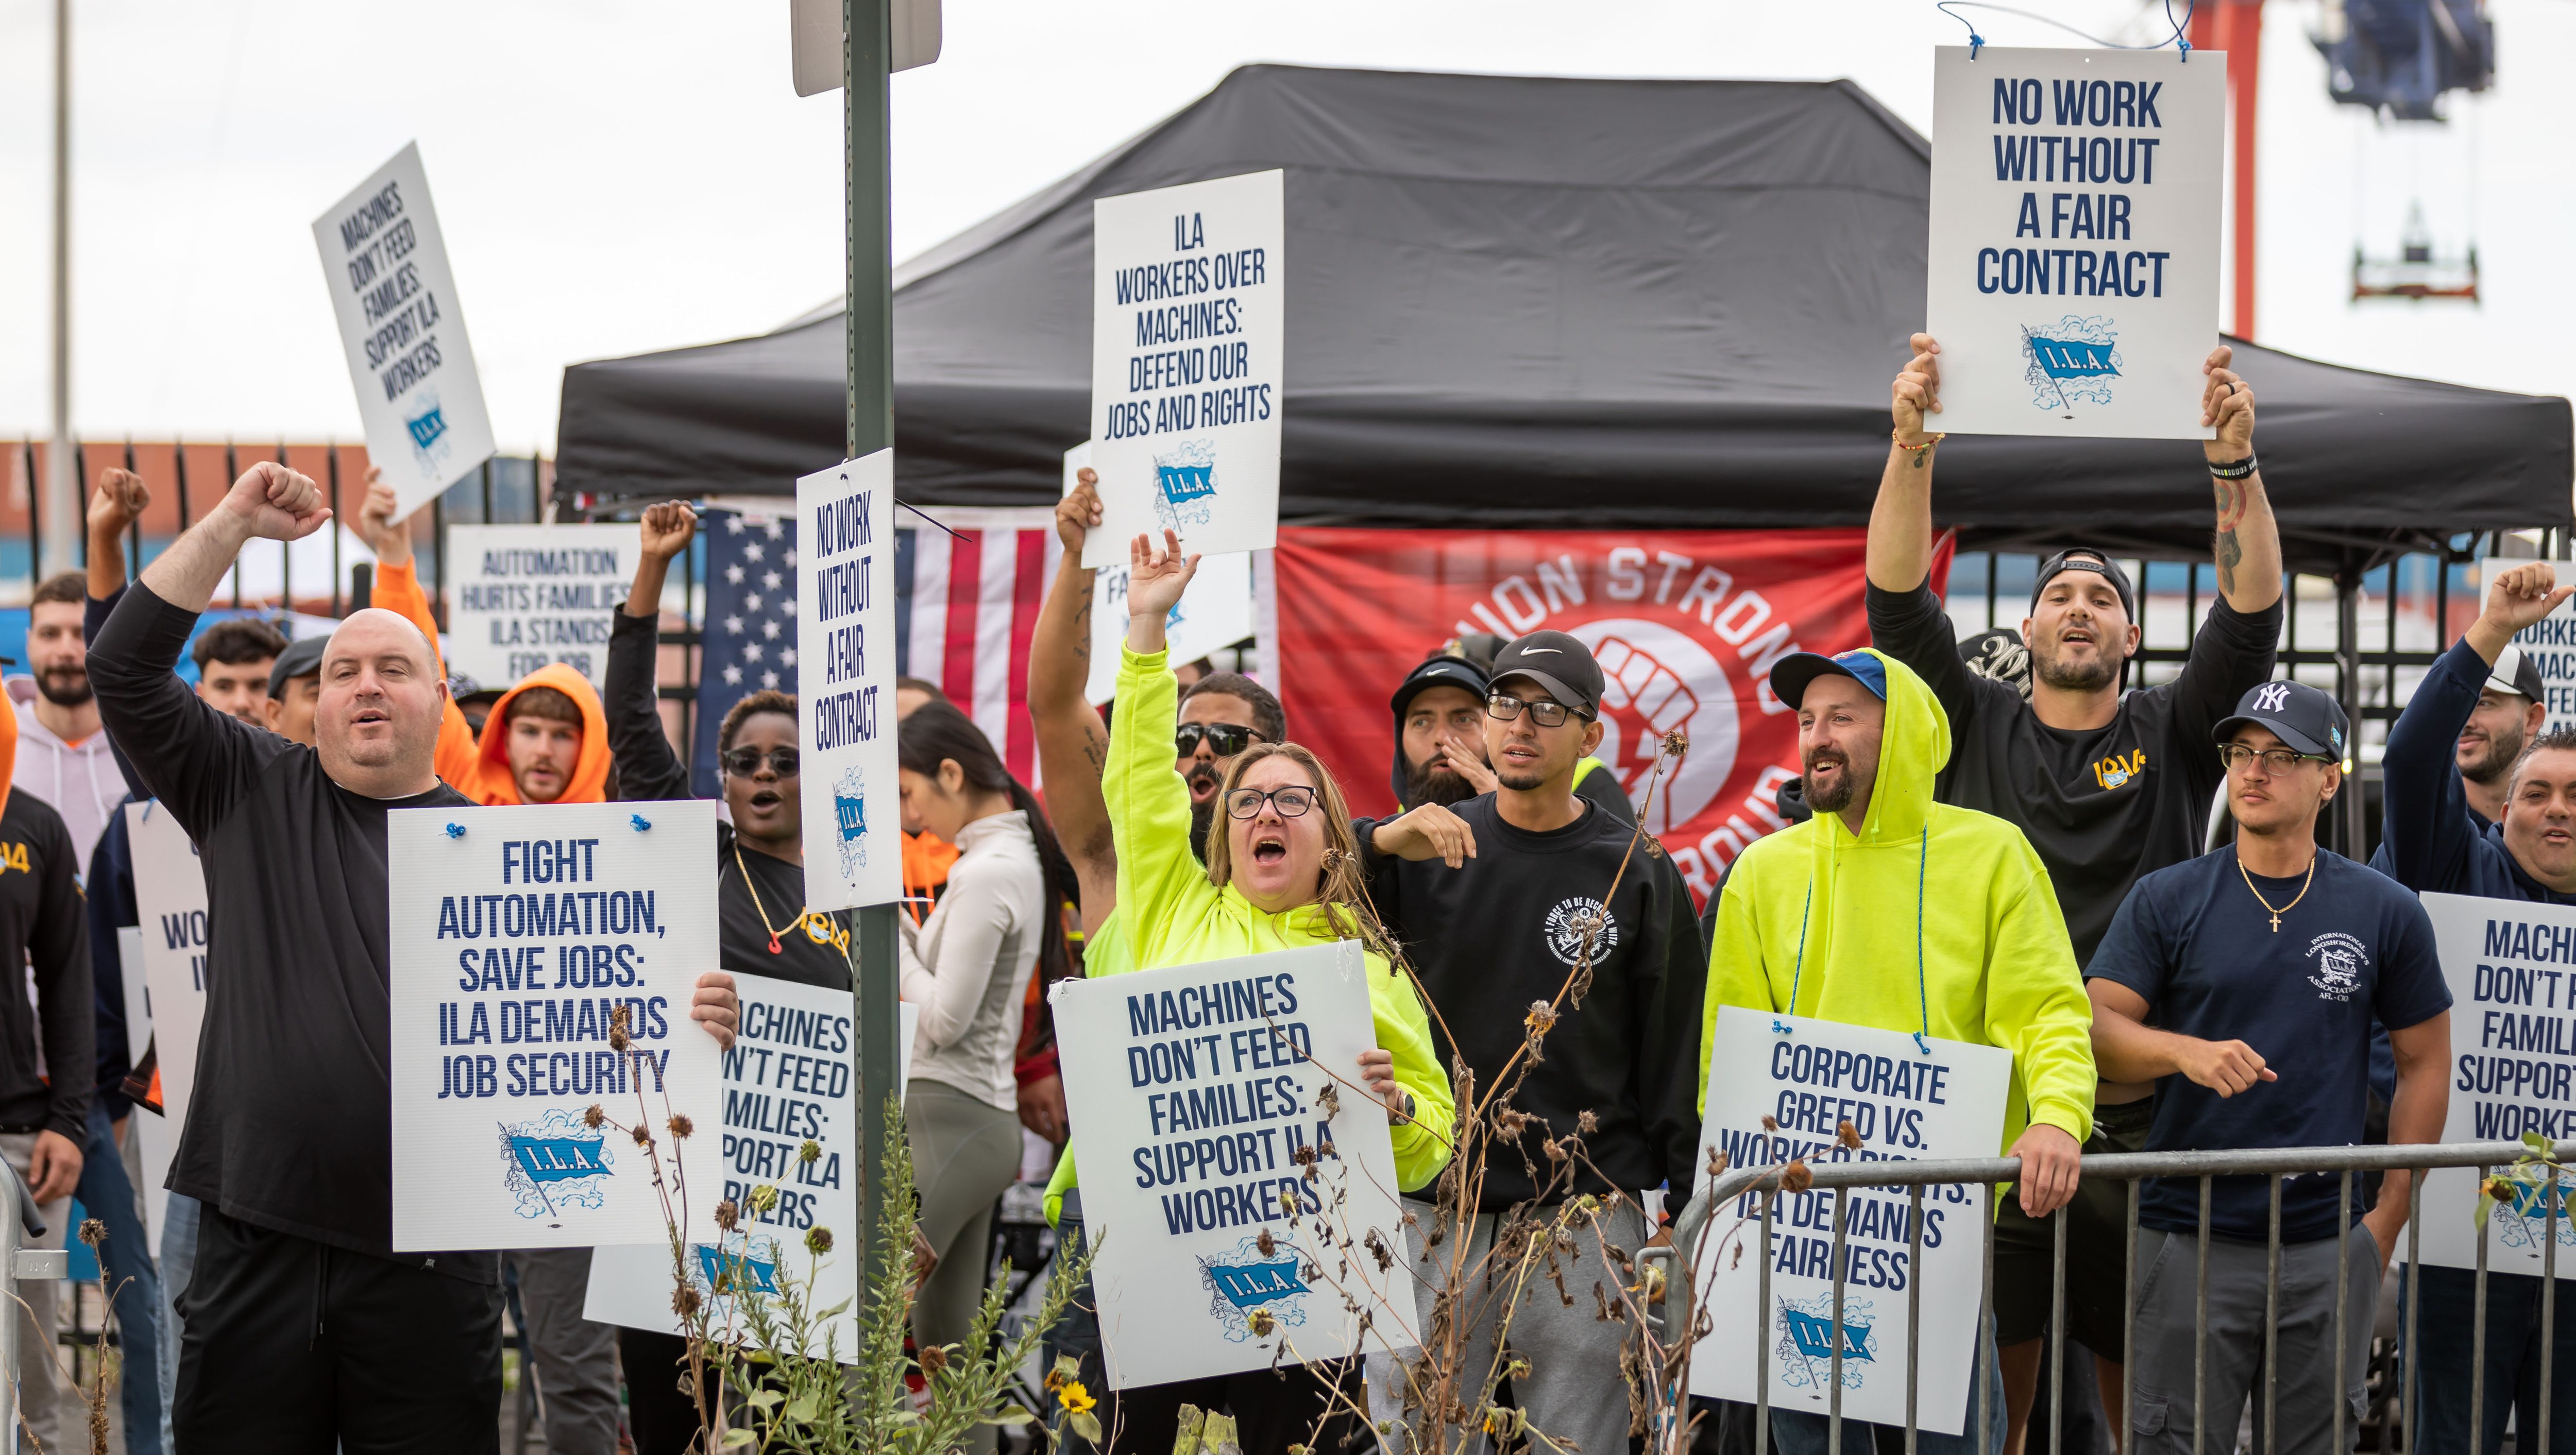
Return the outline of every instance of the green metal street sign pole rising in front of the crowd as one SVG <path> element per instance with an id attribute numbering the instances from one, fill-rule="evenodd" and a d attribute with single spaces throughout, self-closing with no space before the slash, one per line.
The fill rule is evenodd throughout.
<path id="1" fill-rule="evenodd" d="M 889 0 L 845 0 L 842 10 L 842 116 L 848 121 L 845 185 L 850 203 L 850 420 L 842 458 L 860 458 L 894 443 L 894 229 L 886 203 L 886 72 L 894 52 Z M 855 912 L 858 945 L 858 1084 L 866 1167 L 858 1182 L 858 1257 L 876 1244 L 886 1197 L 886 1097 L 896 1094 L 896 904 Z M 902 1252 L 896 1254 L 902 1257 Z M 860 1264 L 866 1267 L 866 1262 Z M 873 1288 L 860 1280 L 860 1288 Z"/>

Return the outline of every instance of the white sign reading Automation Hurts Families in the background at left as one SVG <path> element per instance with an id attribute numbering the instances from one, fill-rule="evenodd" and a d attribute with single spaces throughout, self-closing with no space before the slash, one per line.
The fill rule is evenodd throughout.
<path id="1" fill-rule="evenodd" d="M 448 670 L 507 688 L 562 662 L 608 682 L 634 525 L 448 525 Z"/>

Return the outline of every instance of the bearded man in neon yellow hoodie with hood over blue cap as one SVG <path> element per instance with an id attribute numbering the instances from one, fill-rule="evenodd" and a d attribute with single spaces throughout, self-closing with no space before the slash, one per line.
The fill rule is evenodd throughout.
<path id="1" fill-rule="evenodd" d="M 1700 1028 L 1703 1110 L 1726 1004 L 2002 1046 L 2012 1087 L 1999 1149 L 2022 1159 L 2017 1203 L 2045 1218 L 2074 1197 L 2094 1092 L 2092 1007 L 2048 868 L 2004 819 L 1932 801 L 1950 718 L 1896 657 L 1798 652 L 1772 664 L 1770 685 L 1798 708 L 1816 816 L 1747 847 L 1726 881 Z M 1824 1416 L 1775 1409 L 1772 1432 L 1783 1455 L 1826 1447 Z M 1919 1445 L 1976 1447 L 1965 1434 Z"/>

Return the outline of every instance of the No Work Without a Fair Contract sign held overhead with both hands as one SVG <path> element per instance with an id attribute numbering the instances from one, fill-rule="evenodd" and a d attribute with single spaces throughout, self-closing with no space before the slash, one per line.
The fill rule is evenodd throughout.
<path id="1" fill-rule="evenodd" d="M 2205 440 L 2228 57 L 1937 46 L 1932 430 Z"/>

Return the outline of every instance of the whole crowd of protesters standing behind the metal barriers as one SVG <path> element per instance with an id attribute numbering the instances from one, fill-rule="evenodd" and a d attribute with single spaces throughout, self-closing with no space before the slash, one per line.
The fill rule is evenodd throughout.
<path id="1" fill-rule="evenodd" d="M 1373 765 L 1301 747 L 1301 703 L 1270 685 L 1172 659 L 1167 618 L 1198 556 L 1159 530 L 1128 543 L 1115 695 L 1092 706 L 1082 556 L 1103 502 L 1084 471 L 1054 518 L 1064 554 L 1025 667 L 1043 793 L 938 685 L 894 693 L 909 896 L 896 955 L 920 1017 L 904 1087 L 925 1270 L 914 1347 L 971 1334 L 994 1208 L 1030 1138 L 1054 1172 L 1056 1246 L 1092 1226 L 1082 1172 L 1103 1172 L 1066 1149 L 1082 1110 L 1051 1043 L 1051 986 L 1358 940 L 1373 1048 L 1332 1071 L 1388 1125 L 1406 1244 L 1383 1257 L 1417 1270 L 1404 1316 L 1425 1347 L 1440 1329 L 1466 1365 L 1504 1370 L 1517 1429 L 1546 1434 L 1528 1447 L 1625 1450 L 1641 1434 L 1623 1393 L 1636 1326 L 1584 1270 L 1669 1241 L 1710 1185 L 1703 1112 L 1731 1071 L 1713 1064 L 1726 1009 L 1875 1028 L 1927 1056 L 2009 1053 L 2002 1136 L 1984 1149 L 2020 1159 L 1994 1205 L 1978 1331 L 1999 1388 L 1971 1388 L 1968 1434 L 1927 1429 L 1922 1450 L 2038 1450 L 2035 1401 L 2063 1419 L 2084 1391 L 2112 1419 L 2133 1411 L 2110 1450 L 2233 1450 L 2249 1409 L 2277 1419 L 2259 1450 L 2349 1437 L 2409 1174 L 2352 1205 L 2331 1177 L 2293 1177 L 2277 1203 L 2262 1177 L 2221 1177 L 2208 1205 L 2197 1179 L 2148 1179 L 2133 1246 L 2128 1185 L 2087 1177 L 2081 1156 L 2442 1141 L 2452 994 L 2416 894 L 2576 904 L 2576 734 L 2537 731 L 2537 677 L 2512 644 L 2576 587 L 2537 561 L 2488 574 L 2483 615 L 2388 737 L 2380 855 L 2318 847 L 2318 816 L 2357 791 L 2352 724 L 2277 670 L 2282 554 L 2254 386 L 2231 363 L 2218 348 L 2202 391 L 2221 600 L 2182 672 L 2125 690 L 2138 582 L 2069 541 L 2040 564 L 2020 631 L 2025 693 L 1971 670 L 1932 585 L 1942 350 L 1914 337 L 1868 528 L 1868 644 L 1770 664 L 1767 690 L 1798 724 L 1788 827 L 1705 896 L 1597 757 L 1620 688 L 1564 631 L 1425 644 L 1383 682 L 1399 809 L 1355 816 L 1337 773 Z M 0 865 L 21 870 L 0 870 L 0 937 L 31 971 L 28 997 L 0 997 L 0 1151 L 57 1246 L 75 1195 L 103 1223 L 100 1262 L 124 1285 L 124 1447 L 497 1450 L 510 1288 L 546 1450 L 693 1450 L 683 1339 L 585 1319 L 590 1249 L 394 1252 L 386 814 L 688 798 L 657 652 L 698 510 L 636 520 L 603 688 L 541 667 L 477 724 L 448 688 L 389 489 L 358 520 L 374 605 L 296 641 L 198 618 L 245 543 L 325 528 L 314 482 L 252 466 L 129 582 L 118 541 L 147 497 L 142 479 L 100 474 L 88 572 L 36 587 L 28 675 L 0 713 Z M 175 675 L 183 654 L 193 685 Z M 850 912 L 806 899 L 791 688 L 739 698 L 719 726 L 719 966 L 688 1004 L 719 1043 L 737 1033 L 734 976 L 855 984 Z M 2213 801 L 2233 824 L 2218 847 Z M 124 1035 L 116 932 L 139 922 L 126 803 L 188 832 L 209 896 L 196 1097 L 167 1190 L 137 1187 L 129 1156 L 157 1082 Z M 1489 1107 L 1504 1082 L 1507 1105 Z M 1458 1128 L 1479 1107 L 1492 1131 L 1468 1167 Z M 144 1254 L 144 1197 L 167 1197 L 160 1259 Z M 1533 1216 L 1571 1228 L 1558 1252 L 1577 1272 L 1502 1288 L 1432 1272 L 1512 1246 Z M 2478 1455 L 2509 1411 L 2522 1432 L 2545 1427 L 2543 1401 L 2576 1373 L 2576 1313 L 2540 1282 L 2421 1270 L 2409 1450 L 2468 1450 L 2473 1357 Z M 80 1447 L 82 1411 L 57 1388 L 59 1293 L 23 1298 L 28 1447 Z M 2053 1319 L 2069 1362 L 2089 1367 L 2043 1388 Z M 1448 1411 L 1406 1398 L 1406 1349 L 1113 1388 L 1113 1337 L 1087 1295 L 1048 1334 L 1077 1370 L 1048 1391 L 1079 1398 L 1046 1414 L 1074 1445 L 1066 1411 L 1092 1414 L 1103 1447 L 1151 1455 L 1195 1411 L 1226 1411 L 1255 1455 L 1448 1447 L 1417 1434 Z M 1749 1403 L 1700 1414 L 1703 1440 L 1752 1450 Z M 1914 1447 L 1886 1427 L 1839 1437 Z M 1832 1447 L 1826 1416 L 1803 1409 L 1775 1406 L 1765 1440 Z M 2576 1409 L 2555 1440 L 2576 1447 Z"/>

